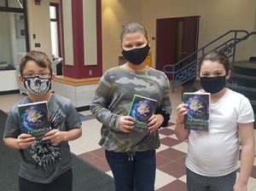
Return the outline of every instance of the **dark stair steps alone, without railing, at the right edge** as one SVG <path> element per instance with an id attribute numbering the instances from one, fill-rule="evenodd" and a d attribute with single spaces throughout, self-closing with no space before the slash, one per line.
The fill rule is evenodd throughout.
<path id="1" fill-rule="evenodd" d="M 253 106 L 254 119 L 256 119 L 256 61 L 233 62 L 227 87 L 247 96 Z"/>

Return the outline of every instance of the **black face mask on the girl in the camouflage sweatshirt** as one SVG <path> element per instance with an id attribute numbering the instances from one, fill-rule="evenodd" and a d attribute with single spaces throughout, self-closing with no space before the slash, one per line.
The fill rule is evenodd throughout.
<path id="1" fill-rule="evenodd" d="M 131 64 L 140 65 L 146 59 L 149 49 L 150 47 L 148 44 L 143 48 L 130 50 L 123 49 L 122 55 L 124 55 L 127 61 L 130 61 Z"/>

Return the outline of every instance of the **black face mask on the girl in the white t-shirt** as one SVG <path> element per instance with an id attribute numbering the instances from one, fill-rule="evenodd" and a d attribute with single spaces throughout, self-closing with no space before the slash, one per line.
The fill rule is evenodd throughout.
<path id="1" fill-rule="evenodd" d="M 218 91 L 223 90 L 226 84 L 225 76 L 218 77 L 200 77 L 201 78 L 201 87 L 203 90 L 211 94 L 216 94 Z"/>

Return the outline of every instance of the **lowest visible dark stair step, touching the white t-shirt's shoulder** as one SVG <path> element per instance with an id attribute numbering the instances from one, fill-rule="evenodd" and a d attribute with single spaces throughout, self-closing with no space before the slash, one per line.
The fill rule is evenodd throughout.
<path id="1" fill-rule="evenodd" d="M 245 86 L 237 85 L 237 84 L 226 84 L 227 88 L 230 88 L 231 90 L 235 90 L 239 93 L 241 93 L 244 96 L 247 96 L 249 100 L 256 100 L 256 88 L 248 88 Z"/>

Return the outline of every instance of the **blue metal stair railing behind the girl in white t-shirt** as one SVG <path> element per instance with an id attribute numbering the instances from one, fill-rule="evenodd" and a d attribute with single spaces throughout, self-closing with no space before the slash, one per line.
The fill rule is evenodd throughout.
<path id="1" fill-rule="evenodd" d="M 203 55 L 212 50 L 212 47 L 213 49 L 222 51 L 230 58 L 230 61 L 235 62 L 236 45 L 255 34 L 256 32 L 247 32 L 245 30 L 230 30 L 218 38 L 213 39 L 212 42 L 207 43 L 201 49 L 197 49 L 195 52 L 184 57 L 182 60 L 176 63 L 166 63 L 163 71 L 167 76 L 172 76 L 172 92 L 174 92 L 175 87 L 195 79 L 198 61 L 200 61 Z M 194 60 L 195 57 L 196 59 Z M 180 67 L 183 63 L 186 63 L 186 65 Z"/>

